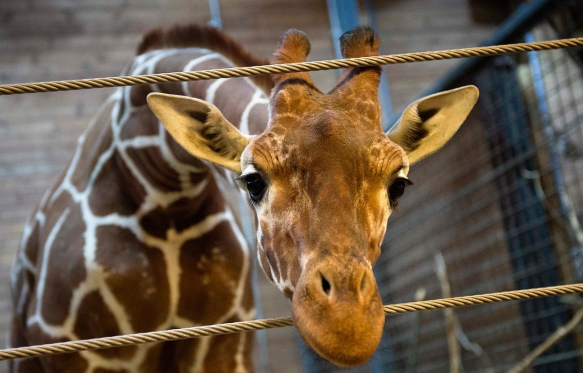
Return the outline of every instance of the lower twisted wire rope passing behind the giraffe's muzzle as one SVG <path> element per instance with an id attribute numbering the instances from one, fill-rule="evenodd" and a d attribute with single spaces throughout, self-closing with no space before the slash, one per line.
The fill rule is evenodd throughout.
<path id="1" fill-rule="evenodd" d="M 388 315 L 403 314 L 406 312 L 427 311 L 431 309 L 463 307 L 493 302 L 511 300 L 525 300 L 554 295 L 583 293 L 583 283 L 532 288 L 526 290 L 504 291 L 502 293 L 490 293 L 481 295 L 468 295 L 464 297 L 443 298 L 429 301 L 408 302 L 402 304 L 385 305 L 384 310 Z M 131 335 L 103 337 L 96 339 L 78 340 L 72 342 L 43 344 L 40 346 L 15 347 L 0 350 L 0 361 L 15 358 L 36 357 L 71 353 L 88 350 L 107 349 L 110 347 L 132 346 L 134 344 L 165 342 L 171 340 L 189 339 L 205 336 L 216 336 L 231 333 L 248 332 L 259 329 L 282 328 L 293 325 L 290 317 L 240 321 L 224 323 L 220 325 L 194 326 L 159 332 L 137 333 Z"/>

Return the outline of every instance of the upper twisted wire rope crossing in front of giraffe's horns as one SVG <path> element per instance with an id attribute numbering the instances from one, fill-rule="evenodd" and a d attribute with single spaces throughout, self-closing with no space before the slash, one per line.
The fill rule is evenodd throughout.
<path id="1" fill-rule="evenodd" d="M 0 85 L 0 96 L 37 92 L 58 92 L 68 90 L 93 89 L 104 87 L 137 86 L 158 83 L 187 82 L 221 78 L 241 78 L 252 75 L 268 75 L 287 72 L 323 71 L 350 67 L 405 64 L 407 62 L 437 61 L 440 59 L 487 57 L 500 54 L 552 50 L 559 48 L 581 47 L 583 37 L 560 40 L 539 41 L 536 43 L 517 43 L 494 45 L 491 47 L 458 48 L 451 50 L 391 54 L 375 57 L 331 59 L 327 61 L 296 62 L 227 69 L 201 70 L 191 72 L 170 72 L 149 75 L 117 76 L 79 80 L 59 80 L 56 82 L 21 83 Z"/>

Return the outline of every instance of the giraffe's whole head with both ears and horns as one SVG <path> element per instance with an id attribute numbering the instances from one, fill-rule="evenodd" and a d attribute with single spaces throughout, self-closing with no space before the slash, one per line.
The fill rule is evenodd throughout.
<path id="1" fill-rule="evenodd" d="M 340 39 L 346 58 L 378 55 L 359 27 Z M 303 33 L 283 34 L 276 63 L 305 61 Z M 415 101 L 389 133 L 380 124 L 380 68 L 350 68 L 328 94 L 308 73 L 273 77 L 269 124 L 240 133 L 212 104 L 152 93 L 150 107 L 190 153 L 237 174 L 257 214 L 258 257 L 292 302 L 301 336 L 338 365 L 364 363 L 384 312 L 372 267 L 409 166 L 451 138 L 476 103 L 466 86 Z"/>

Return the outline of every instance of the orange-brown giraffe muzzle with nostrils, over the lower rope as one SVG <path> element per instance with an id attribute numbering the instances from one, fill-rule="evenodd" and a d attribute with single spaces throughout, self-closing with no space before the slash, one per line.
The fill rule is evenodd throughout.
<path id="1" fill-rule="evenodd" d="M 340 366 L 370 359 L 385 321 L 370 266 L 355 262 L 308 263 L 292 299 L 294 323 L 305 342 Z"/>

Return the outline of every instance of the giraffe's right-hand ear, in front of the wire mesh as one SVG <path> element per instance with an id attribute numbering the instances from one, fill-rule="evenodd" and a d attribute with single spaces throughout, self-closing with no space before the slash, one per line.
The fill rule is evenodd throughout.
<path id="1" fill-rule="evenodd" d="M 431 94 L 410 104 L 387 136 L 405 149 L 410 164 L 440 149 L 476 104 L 476 86 Z"/>

